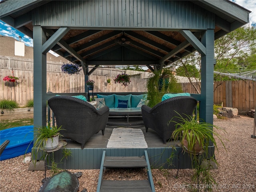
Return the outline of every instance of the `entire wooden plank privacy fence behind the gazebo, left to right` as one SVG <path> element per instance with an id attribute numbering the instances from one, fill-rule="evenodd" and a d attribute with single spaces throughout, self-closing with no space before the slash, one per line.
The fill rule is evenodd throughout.
<path id="1" fill-rule="evenodd" d="M 85 91 L 84 74 L 68 75 L 60 70 L 62 63 L 47 61 L 47 79 L 46 92 L 53 93 L 82 93 Z M 94 92 L 147 92 L 147 79 L 132 78 L 132 82 L 124 87 L 121 84 L 115 84 L 116 74 L 122 73 L 117 69 L 110 72 L 100 70 L 98 74 L 89 76 L 89 79 L 95 81 Z M 133 71 L 133 73 L 135 73 Z M 110 76 L 112 74 L 112 76 Z M 128 72 L 130 74 L 130 72 Z M 19 78 L 18 83 L 4 82 L 4 76 L 14 75 Z M 145 74 L 141 74 L 146 77 Z M 134 76 L 136 77 L 136 76 Z M 34 96 L 34 74 L 33 60 L 25 58 L 0 58 L 0 100 L 15 100 L 20 106 L 25 106 L 28 100 Z M 107 79 L 110 78 L 110 84 Z M 197 93 L 196 89 L 190 83 L 182 83 L 184 92 Z M 198 85 L 196 88 L 200 91 Z M 248 112 L 256 105 L 256 82 L 250 80 L 214 82 L 214 103 L 223 106 L 237 108 L 240 113 Z"/>

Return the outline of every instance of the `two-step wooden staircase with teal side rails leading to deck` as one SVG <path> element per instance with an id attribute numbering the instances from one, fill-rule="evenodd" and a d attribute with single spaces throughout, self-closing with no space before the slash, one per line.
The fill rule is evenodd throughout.
<path id="1" fill-rule="evenodd" d="M 106 151 L 103 151 L 97 192 L 155 192 L 148 152 L 146 150 L 144 152 L 145 156 L 139 157 L 113 157 L 106 156 Z M 140 167 L 146 168 L 148 180 L 103 180 L 105 168 Z"/>

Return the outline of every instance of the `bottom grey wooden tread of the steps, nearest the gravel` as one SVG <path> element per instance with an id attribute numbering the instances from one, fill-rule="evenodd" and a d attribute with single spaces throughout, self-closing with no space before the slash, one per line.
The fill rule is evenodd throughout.
<path id="1" fill-rule="evenodd" d="M 148 180 L 103 180 L 100 192 L 152 192 Z"/>

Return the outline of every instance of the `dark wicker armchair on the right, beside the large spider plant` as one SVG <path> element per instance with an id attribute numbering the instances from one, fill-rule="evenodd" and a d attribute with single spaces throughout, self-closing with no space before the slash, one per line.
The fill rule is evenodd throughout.
<path id="1" fill-rule="evenodd" d="M 191 96 L 178 96 L 166 99 L 156 104 L 153 108 L 143 105 L 141 111 L 146 132 L 148 132 L 148 128 L 155 130 L 164 140 L 164 144 L 166 144 L 166 140 L 170 139 L 175 129 L 175 123 L 170 122 L 168 124 L 168 122 L 173 117 L 178 116 L 176 112 L 183 118 L 186 118 L 184 114 L 192 115 L 196 104 L 196 99 Z M 178 121 L 177 118 L 172 120 Z"/>

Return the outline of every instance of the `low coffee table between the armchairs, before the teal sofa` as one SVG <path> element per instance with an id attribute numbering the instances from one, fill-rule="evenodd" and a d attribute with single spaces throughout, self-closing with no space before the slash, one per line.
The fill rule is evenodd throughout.
<path id="1" fill-rule="evenodd" d="M 107 125 L 110 125 L 110 126 L 144 125 L 144 122 L 142 120 L 141 108 L 109 109 Z"/>

